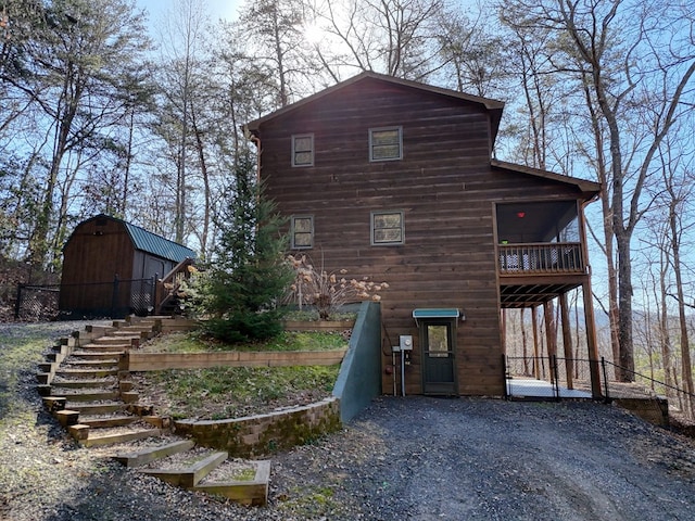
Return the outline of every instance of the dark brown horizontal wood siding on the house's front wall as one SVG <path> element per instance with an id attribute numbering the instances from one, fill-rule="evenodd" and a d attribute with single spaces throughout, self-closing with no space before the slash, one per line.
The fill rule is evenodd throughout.
<path id="1" fill-rule="evenodd" d="M 369 162 L 368 129 L 402 126 L 403 160 Z M 291 136 L 314 134 L 312 167 L 291 166 Z M 459 308 L 459 394 L 501 395 L 504 377 L 495 259 L 494 202 L 557 198 L 544 180 L 493 173 L 484 107 L 418 89 L 365 80 L 264 123 L 258 132 L 267 195 L 290 216 L 313 215 L 314 249 L 327 270 L 386 281 L 382 390 L 393 389 L 391 345 L 415 341 L 406 393 L 421 393 L 413 309 Z M 564 196 L 576 198 L 576 193 Z M 375 246 L 370 213 L 402 211 L 405 243 Z"/>

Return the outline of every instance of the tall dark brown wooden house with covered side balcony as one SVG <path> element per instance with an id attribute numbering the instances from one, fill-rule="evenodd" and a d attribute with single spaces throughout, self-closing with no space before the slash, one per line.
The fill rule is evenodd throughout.
<path id="1" fill-rule="evenodd" d="M 582 207 L 599 186 L 492 160 L 502 110 L 363 73 L 247 126 L 292 251 L 390 284 L 384 393 L 412 335 L 407 394 L 504 394 L 501 309 L 578 287 L 595 358 Z"/>

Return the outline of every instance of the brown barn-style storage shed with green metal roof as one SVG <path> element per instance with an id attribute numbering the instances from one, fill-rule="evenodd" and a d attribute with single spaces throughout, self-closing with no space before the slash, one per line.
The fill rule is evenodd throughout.
<path id="1" fill-rule="evenodd" d="M 59 309 L 72 317 L 124 317 L 155 309 L 156 281 L 195 252 L 139 226 L 97 215 L 63 247 Z"/>

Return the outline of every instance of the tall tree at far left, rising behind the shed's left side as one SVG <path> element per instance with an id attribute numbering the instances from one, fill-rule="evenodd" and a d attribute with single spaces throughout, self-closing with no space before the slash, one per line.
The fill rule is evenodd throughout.
<path id="1" fill-rule="evenodd" d="M 21 116 L 14 129 L 22 130 L 4 139 L 37 158 L 25 165 L 40 188 L 27 229 L 28 257 L 38 271 L 60 260 L 76 167 L 117 147 L 111 130 L 123 123 L 125 105 L 144 82 L 141 63 L 148 40 L 142 17 L 124 0 L 20 7 L 8 20 L 12 30 L 17 28 L 18 42 L 3 49 L 11 60 L 3 62 L 0 74 L 3 86 L 22 93 L 28 109 L 15 111 Z M 20 139 L 22 147 L 16 147 Z"/>

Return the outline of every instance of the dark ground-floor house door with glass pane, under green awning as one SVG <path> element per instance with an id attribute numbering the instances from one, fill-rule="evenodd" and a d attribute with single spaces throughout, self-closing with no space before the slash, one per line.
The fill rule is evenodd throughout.
<path id="1" fill-rule="evenodd" d="M 458 394 L 453 321 L 424 320 L 420 322 L 420 345 L 422 346 L 424 394 Z"/>

